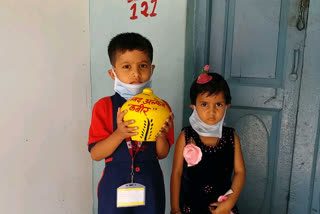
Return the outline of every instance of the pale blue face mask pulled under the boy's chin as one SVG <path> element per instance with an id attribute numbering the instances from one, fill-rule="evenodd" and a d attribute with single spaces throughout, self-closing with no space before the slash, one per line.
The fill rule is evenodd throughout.
<path id="1" fill-rule="evenodd" d="M 132 97 L 136 96 L 137 94 L 142 93 L 142 90 L 145 88 L 151 88 L 151 77 L 148 81 L 140 83 L 140 84 L 127 84 L 121 82 L 114 70 L 112 69 L 112 73 L 114 74 L 114 91 L 117 92 L 121 97 L 125 98 L 126 100 L 131 99 Z"/>

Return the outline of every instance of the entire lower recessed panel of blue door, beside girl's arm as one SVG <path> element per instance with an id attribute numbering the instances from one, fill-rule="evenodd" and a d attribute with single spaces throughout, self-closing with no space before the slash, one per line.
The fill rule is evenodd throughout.
<path id="1" fill-rule="evenodd" d="M 277 149 L 279 110 L 233 107 L 227 124 L 240 137 L 246 163 L 246 184 L 238 200 L 241 213 L 267 213 L 270 210 L 271 182 L 274 176 L 273 155 Z M 254 201 L 254 203 L 252 203 Z M 245 205 L 245 206 L 244 206 Z"/>

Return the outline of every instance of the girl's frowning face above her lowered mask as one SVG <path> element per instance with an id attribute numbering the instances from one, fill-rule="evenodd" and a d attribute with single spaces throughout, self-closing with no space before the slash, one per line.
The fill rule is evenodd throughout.
<path id="1" fill-rule="evenodd" d="M 224 93 L 221 91 L 218 94 L 205 92 L 198 94 L 196 99 L 196 109 L 200 119 L 208 125 L 218 123 L 224 115 L 224 112 L 229 108 L 230 104 L 226 105 Z M 194 110 L 193 106 L 191 108 Z"/>

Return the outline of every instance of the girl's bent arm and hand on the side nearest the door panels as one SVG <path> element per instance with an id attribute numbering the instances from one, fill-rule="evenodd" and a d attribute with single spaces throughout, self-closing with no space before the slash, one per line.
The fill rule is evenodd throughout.
<path id="1" fill-rule="evenodd" d="M 230 213 L 230 210 L 236 204 L 242 187 L 244 185 L 245 177 L 246 177 L 246 169 L 244 166 L 244 161 L 242 157 L 241 147 L 239 137 L 236 133 L 234 133 L 234 176 L 232 181 L 231 189 L 233 191 L 232 194 L 228 196 L 228 199 L 224 202 L 216 202 L 211 205 L 218 206 L 216 210 L 211 211 L 212 213 Z M 223 205 L 222 205 L 223 204 Z M 222 206 L 219 206 L 222 205 Z"/>

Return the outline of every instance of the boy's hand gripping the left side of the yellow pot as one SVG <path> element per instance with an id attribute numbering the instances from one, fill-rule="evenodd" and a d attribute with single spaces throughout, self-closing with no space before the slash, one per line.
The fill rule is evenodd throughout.
<path id="1" fill-rule="evenodd" d="M 121 112 L 120 108 L 118 108 L 118 111 L 117 111 L 117 130 L 115 132 L 117 132 L 117 134 L 120 135 L 121 138 L 123 138 L 123 139 L 138 134 L 138 132 L 133 132 L 133 131 L 138 130 L 137 126 L 128 127 L 128 125 L 135 123 L 134 120 L 123 121 L 123 117 L 126 113 L 127 113 L 127 110 L 124 110 Z"/>

